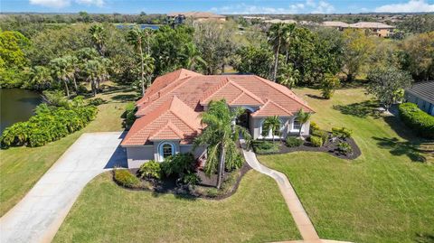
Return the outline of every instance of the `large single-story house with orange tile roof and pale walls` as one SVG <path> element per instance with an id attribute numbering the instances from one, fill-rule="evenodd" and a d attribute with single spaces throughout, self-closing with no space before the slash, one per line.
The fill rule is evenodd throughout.
<path id="1" fill-rule="evenodd" d="M 206 156 L 206 148 L 193 151 L 193 139 L 201 134 L 201 113 L 212 100 L 224 98 L 229 107 L 245 108 L 237 119 L 249 129 L 254 139 L 262 136 L 266 117 L 278 116 L 280 136 L 309 134 L 309 124 L 301 126 L 296 113 L 313 112 L 290 89 L 256 75 L 202 75 L 191 70 L 175 70 L 156 78 L 140 98 L 137 120 L 121 146 L 127 150 L 128 167 L 138 167 L 149 160 L 161 162 L 165 157 L 194 152 L 196 158 Z M 278 136 L 274 136 L 278 138 Z"/>

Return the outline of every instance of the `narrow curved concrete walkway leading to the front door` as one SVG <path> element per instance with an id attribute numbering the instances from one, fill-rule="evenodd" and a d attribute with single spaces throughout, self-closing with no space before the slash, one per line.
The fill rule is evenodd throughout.
<path id="1" fill-rule="evenodd" d="M 306 210 L 303 208 L 301 201 L 298 199 L 296 191 L 294 191 L 294 188 L 292 187 L 291 183 L 288 181 L 288 177 L 284 173 L 279 173 L 278 171 L 271 170 L 269 169 L 269 167 L 260 164 L 258 159 L 256 158 L 256 154 L 253 153 L 251 150 L 246 151 L 245 149 L 243 149 L 242 152 L 244 154 L 247 164 L 249 164 L 251 168 L 258 171 L 259 173 L 267 174 L 269 177 L 272 177 L 276 182 L 278 182 L 278 188 L 280 189 L 283 198 L 287 202 L 288 209 L 291 212 L 292 218 L 296 222 L 297 229 L 298 231 L 300 231 L 301 237 L 303 238 L 303 240 L 294 240 L 288 242 L 344 243 L 344 241 L 320 239 L 318 237 L 318 234 L 316 233 L 316 229 L 312 224 L 312 221 L 307 216 Z"/>

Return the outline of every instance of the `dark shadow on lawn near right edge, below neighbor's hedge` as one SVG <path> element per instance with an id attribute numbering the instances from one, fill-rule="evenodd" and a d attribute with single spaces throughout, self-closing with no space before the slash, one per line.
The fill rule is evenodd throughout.
<path id="1" fill-rule="evenodd" d="M 397 137 L 377 137 L 373 139 L 378 141 L 377 145 L 390 150 L 393 155 L 407 155 L 412 162 L 425 163 L 427 158 L 425 155 L 433 153 L 430 150 L 420 148 L 420 142 L 411 143 L 408 141 L 400 141 Z"/>

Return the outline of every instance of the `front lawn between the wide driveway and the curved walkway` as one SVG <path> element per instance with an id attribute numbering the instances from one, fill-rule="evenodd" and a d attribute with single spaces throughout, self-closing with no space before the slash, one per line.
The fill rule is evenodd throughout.
<path id="1" fill-rule="evenodd" d="M 94 179 L 53 242 L 270 242 L 301 238 L 271 178 L 250 171 L 222 201 L 129 191 Z"/>

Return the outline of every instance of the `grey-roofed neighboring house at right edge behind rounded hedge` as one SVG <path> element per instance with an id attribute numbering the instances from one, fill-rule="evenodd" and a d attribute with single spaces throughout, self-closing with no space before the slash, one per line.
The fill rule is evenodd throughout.
<path id="1" fill-rule="evenodd" d="M 404 98 L 434 116 L 434 81 L 415 83 L 411 88 L 405 89 Z"/>

